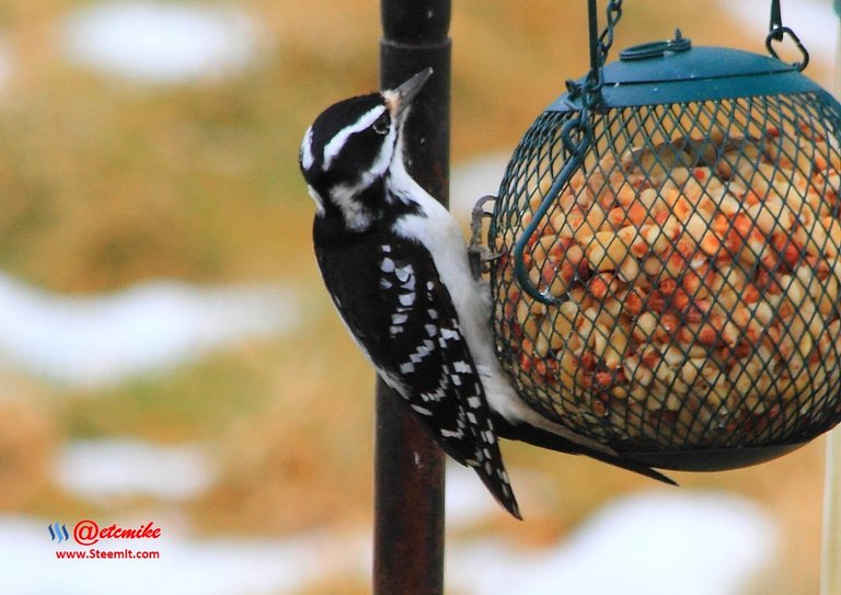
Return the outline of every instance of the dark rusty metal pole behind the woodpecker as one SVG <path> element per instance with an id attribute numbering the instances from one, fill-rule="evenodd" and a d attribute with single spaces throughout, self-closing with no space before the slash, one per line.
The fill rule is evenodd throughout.
<path id="1" fill-rule="evenodd" d="M 450 0 L 381 0 L 380 83 L 393 89 L 431 67 L 405 128 L 407 169 L 449 196 Z M 443 593 L 443 455 L 381 380 L 377 384 L 375 595 Z"/>

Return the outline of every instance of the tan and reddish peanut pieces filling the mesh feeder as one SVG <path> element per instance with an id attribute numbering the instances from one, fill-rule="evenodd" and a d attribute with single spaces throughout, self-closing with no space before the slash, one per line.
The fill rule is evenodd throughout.
<path id="1" fill-rule="evenodd" d="M 525 398 L 641 450 L 761 445 L 811 423 L 841 382 L 834 142 L 794 123 L 602 147 L 523 253 L 554 304 L 522 291 L 510 256 L 495 272 L 500 353 Z M 509 188 L 526 208 L 496 252 L 548 193 L 550 153 L 533 151 L 545 175 Z"/>

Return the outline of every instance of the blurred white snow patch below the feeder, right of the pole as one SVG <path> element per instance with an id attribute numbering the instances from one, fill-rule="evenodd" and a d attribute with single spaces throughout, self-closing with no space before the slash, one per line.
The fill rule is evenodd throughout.
<path id="1" fill-rule="evenodd" d="M 737 595 L 776 541 L 772 519 L 746 500 L 655 492 L 608 505 L 553 550 L 474 542 L 453 548 L 447 568 L 475 595 Z"/>

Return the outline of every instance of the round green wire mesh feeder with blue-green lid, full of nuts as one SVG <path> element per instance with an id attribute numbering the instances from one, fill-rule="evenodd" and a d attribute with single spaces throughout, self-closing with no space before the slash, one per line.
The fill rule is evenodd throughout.
<path id="1" fill-rule="evenodd" d="M 543 415 L 646 465 L 729 469 L 841 419 L 841 105 L 772 4 L 770 56 L 673 39 L 526 131 L 488 230 L 494 334 Z M 802 60 L 781 61 L 793 41 Z"/>

